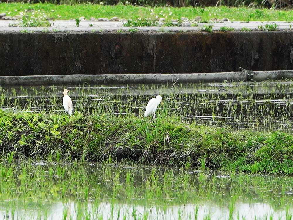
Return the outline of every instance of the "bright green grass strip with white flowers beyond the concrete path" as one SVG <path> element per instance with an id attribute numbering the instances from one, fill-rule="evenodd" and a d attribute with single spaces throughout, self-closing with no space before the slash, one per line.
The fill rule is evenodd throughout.
<path id="1" fill-rule="evenodd" d="M 201 16 L 202 21 L 212 18 L 228 18 L 231 21 L 293 21 L 293 13 L 290 10 L 255 9 L 247 7 L 140 7 L 132 5 L 97 5 L 97 4 L 23 4 L 23 3 L 0 3 L 0 13 L 8 16 L 18 15 L 27 9 L 40 10 L 47 17 L 54 19 L 75 19 L 84 16 L 86 19 L 111 18 L 117 16 L 125 19 L 137 18 L 168 18 L 178 19 L 186 17 L 193 19 Z M 152 10 L 152 11 L 151 11 Z"/>

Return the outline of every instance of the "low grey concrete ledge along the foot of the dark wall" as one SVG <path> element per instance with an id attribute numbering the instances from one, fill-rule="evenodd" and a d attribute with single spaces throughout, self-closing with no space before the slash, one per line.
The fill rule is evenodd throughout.
<path id="1" fill-rule="evenodd" d="M 292 79 L 293 70 L 242 71 L 190 74 L 102 74 L 102 75 L 37 75 L 2 76 L 0 86 L 16 85 L 83 85 L 83 84 L 137 84 L 137 83 L 192 83 L 224 81 L 263 81 Z"/>

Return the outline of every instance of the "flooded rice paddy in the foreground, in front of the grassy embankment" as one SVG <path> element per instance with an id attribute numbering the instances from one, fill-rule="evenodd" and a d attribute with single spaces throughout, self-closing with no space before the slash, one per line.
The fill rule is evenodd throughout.
<path id="1" fill-rule="evenodd" d="M 0 171 L 0 219 L 291 219 L 293 213 L 292 177 L 43 162 L 2 163 Z"/>

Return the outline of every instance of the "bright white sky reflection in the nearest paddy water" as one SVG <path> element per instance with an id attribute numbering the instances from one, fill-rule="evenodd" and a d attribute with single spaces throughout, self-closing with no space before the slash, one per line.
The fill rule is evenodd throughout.
<path id="1" fill-rule="evenodd" d="M 1 203 L 0 203 L 1 204 Z M 141 206 L 137 204 L 120 204 L 102 201 L 98 203 L 44 202 L 47 210 L 17 207 L 15 219 L 288 219 L 292 207 L 274 210 L 266 203 L 237 202 L 231 207 L 219 206 L 205 201 L 199 204 L 184 204 L 180 206 L 166 203 L 166 206 Z M 6 216 L 6 210 L 0 206 L 0 216 Z M 11 212 L 10 212 L 11 215 Z M 286 217 L 287 216 L 287 217 Z"/>

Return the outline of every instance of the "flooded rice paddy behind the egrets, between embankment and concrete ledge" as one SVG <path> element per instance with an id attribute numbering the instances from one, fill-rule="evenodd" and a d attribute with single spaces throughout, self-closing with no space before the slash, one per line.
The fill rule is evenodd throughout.
<path id="1" fill-rule="evenodd" d="M 183 121 L 292 132 L 293 81 L 67 87 L 76 111 L 142 116 L 156 94 Z M 2 87 L 0 107 L 62 114 L 64 87 Z M 164 105 L 160 105 L 158 112 Z"/>

